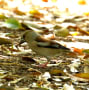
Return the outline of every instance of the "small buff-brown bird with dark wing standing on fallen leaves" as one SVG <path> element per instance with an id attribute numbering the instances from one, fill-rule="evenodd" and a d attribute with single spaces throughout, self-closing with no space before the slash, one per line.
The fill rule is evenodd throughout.
<path id="1" fill-rule="evenodd" d="M 43 37 L 34 30 L 25 31 L 21 37 L 20 43 L 23 43 L 23 40 L 28 43 L 29 48 L 32 49 L 32 51 L 41 56 L 45 56 L 48 62 L 50 61 L 50 57 L 60 55 L 62 52 L 70 52 L 69 48 L 62 46 L 54 40 Z M 44 65 L 46 66 L 48 62 Z"/>

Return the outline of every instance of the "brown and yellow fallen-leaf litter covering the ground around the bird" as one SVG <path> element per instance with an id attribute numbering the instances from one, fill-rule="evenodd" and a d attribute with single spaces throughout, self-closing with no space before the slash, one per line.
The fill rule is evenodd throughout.
<path id="1" fill-rule="evenodd" d="M 43 1 L 47 2 L 47 0 Z M 49 8 L 46 9 L 50 11 Z M 14 9 L 14 19 L 12 19 L 12 13 L 0 15 L 0 34 L 3 36 L 0 38 L 1 89 L 89 89 L 88 17 L 78 15 L 59 17 L 53 12 L 47 11 L 47 13 L 31 9 L 29 17 L 26 16 L 23 19 L 25 13 Z M 46 68 L 36 67 L 47 60 L 30 50 L 26 43 L 19 45 L 21 34 L 26 29 L 34 29 L 46 38 L 57 40 L 72 49 L 73 53 L 53 57 Z"/>

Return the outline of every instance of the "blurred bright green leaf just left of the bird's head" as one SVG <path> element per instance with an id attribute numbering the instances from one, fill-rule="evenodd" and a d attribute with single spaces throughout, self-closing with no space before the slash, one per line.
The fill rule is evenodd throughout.
<path id="1" fill-rule="evenodd" d="M 6 19 L 4 26 L 11 29 L 20 29 L 22 28 L 21 24 L 15 18 Z"/>

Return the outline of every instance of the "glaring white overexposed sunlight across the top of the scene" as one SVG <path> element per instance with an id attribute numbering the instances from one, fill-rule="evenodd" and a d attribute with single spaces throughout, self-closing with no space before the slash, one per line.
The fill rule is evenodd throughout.
<path id="1" fill-rule="evenodd" d="M 57 8 L 62 14 L 66 15 L 86 15 L 89 13 L 89 1 L 88 0 L 0 0 L 0 3 L 5 7 L 5 9 L 14 9 L 22 12 L 29 12 L 34 6 L 37 9 L 50 7 Z"/>

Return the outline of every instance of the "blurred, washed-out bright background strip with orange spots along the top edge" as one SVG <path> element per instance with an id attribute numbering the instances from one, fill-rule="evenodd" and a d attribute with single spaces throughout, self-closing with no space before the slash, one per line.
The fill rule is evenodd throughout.
<path id="1" fill-rule="evenodd" d="M 0 0 L 0 12 L 4 13 L 2 9 L 24 14 L 35 9 L 44 14 L 49 10 L 57 15 L 89 16 L 89 0 Z"/>

